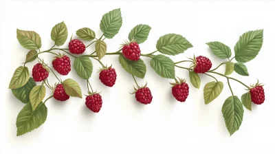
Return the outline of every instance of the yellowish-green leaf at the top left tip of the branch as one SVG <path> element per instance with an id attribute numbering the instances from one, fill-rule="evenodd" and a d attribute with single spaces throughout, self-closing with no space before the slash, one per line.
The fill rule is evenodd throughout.
<path id="1" fill-rule="evenodd" d="M 28 50 L 41 48 L 41 38 L 36 32 L 17 29 L 17 40 Z"/>

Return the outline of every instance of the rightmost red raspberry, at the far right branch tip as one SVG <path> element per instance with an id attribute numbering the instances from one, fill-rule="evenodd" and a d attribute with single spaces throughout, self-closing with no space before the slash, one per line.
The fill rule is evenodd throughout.
<path id="1" fill-rule="evenodd" d="M 265 101 L 265 91 L 263 90 L 263 86 L 256 86 L 250 89 L 251 100 L 254 104 L 263 104 Z"/>

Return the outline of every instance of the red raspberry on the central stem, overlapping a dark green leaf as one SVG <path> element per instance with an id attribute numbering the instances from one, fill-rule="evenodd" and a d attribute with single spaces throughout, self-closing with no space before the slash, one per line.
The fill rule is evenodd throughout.
<path id="1" fill-rule="evenodd" d="M 140 46 L 136 42 L 124 45 L 122 48 L 122 54 L 130 61 L 138 61 L 140 59 Z"/>

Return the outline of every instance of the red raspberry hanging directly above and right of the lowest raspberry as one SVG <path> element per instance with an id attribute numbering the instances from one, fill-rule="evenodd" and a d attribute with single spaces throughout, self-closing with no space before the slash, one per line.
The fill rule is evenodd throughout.
<path id="1" fill-rule="evenodd" d="M 115 85 L 116 80 L 116 72 L 115 69 L 112 67 L 102 69 L 102 71 L 99 74 L 99 79 L 101 80 L 101 83 L 108 87 L 113 87 Z"/>

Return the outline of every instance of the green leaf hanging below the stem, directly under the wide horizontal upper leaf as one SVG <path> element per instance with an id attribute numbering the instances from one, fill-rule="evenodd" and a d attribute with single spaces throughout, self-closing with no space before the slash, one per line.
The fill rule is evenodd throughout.
<path id="1" fill-rule="evenodd" d="M 162 54 L 156 55 L 151 59 L 151 67 L 162 78 L 175 78 L 174 62 Z"/>

